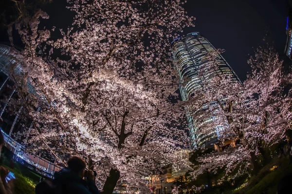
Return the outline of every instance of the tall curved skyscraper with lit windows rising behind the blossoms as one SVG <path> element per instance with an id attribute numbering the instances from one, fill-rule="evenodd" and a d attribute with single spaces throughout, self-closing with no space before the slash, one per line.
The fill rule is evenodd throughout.
<path id="1" fill-rule="evenodd" d="M 180 76 L 179 90 L 184 101 L 188 100 L 196 90 L 202 87 L 203 81 L 208 81 L 219 74 L 229 74 L 234 81 L 239 80 L 223 57 L 199 32 L 189 33 L 184 38 L 176 38 L 171 43 L 171 51 Z M 211 54 L 213 56 L 212 61 Z M 211 63 L 213 65 L 210 65 Z M 216 105 L 216 102 L 209 103 Z M 203 108 L 204 105 L 202 105 Z M 217 129 L 213 129 L 208 134 L 200 134 L 197 121 L 192 118 L 188 111 L 186 111 L 186 117 L 192 148 L 208 148 L 218 142 Z M 203 122 L 209 123 L 214 119 L 209 117 Z"/>

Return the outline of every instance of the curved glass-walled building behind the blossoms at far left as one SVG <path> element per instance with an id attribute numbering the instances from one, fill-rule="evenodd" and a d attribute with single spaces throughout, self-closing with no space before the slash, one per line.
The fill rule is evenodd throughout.
<path id="1" fill-rule="evenodd" d="M 22 139 L 15 139 L 15 133 L 23 132 L 32 127 L 32 120 L 21 118 L 19 114 L 22 107 L 15 114 L 8 113 L 7 105 L 11 99 L 17 99 L 17 92 L 14 90 L 14 81 L 9 79 L 9 71 L 14 66 L 14 73 L 21 75 L 21 67 L 9 54 L 10 47 L 0 45 L 0 130 L 4 135 L 5 146 L 12 151 L 16 158 L 25 161 L 28 167 L 47 177 L 53 177 L 54 172 L 60 170 L 60 165 L 48 161 L 40 156 L 26 153 L 23 140 L 28 139 L 29 134 Z M 28 92 L 36 95 L 36 90 L 28 80 Z M 37 109 L 39 111 L 39 108 Z M 29 131 L 29 130 L 28 130 Z M 25 141 L 25 142 L 26 142 Z"/>

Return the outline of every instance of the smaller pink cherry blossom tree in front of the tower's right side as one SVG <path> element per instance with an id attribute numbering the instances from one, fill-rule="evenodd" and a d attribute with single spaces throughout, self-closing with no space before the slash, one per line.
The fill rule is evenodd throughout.
<path id="1" fill-rule="evenodd" d="M 258 158 L 268 160 L 269 148 L 286 138 L 286 131 L 291 130 L 292 93 L 284 90 L 291 83 L 291 73 L 283 71 L 283 61 L 269 46 L 257 49 L 248 63 L 252 71 L 243 83 L 215 71 L 217 75 L 203 83 L 195 100 L 190 99 L 194 120 L 203 123 L 207 117 L 214 118 L 211 123 L 199 125 L 199 133 L 217 129 L 222 143 L 230 139 L 240 141 L 222 152 L 198 157 L 201 165 L 193 172 L 195 177 L 206 170 L 216 173 L 219 168 L 224 168 L 227 175 L 236 167 L 239 169 L 236 176 L 248 169 L 256 174 L 260 168 Z M 205 108 L 201 109 L 203 104 Z"/>

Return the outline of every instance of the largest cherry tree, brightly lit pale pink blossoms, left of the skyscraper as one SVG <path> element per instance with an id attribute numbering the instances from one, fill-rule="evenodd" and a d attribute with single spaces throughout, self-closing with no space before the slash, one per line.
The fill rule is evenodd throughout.
<path id="1" fill-rule="evenodd" d="M 62 162 L 65 153 L 82 156 L 104 193 L 119 180 L 142 189 L 143 177 L 174 162 L 174 152 L 187 143 L 177 128 L 185 102 L 171 101 L 178 81 L 169 45 L 194 18 L 181 0 L 68 3 L 76 15 L 60 39 L 38 29 L 39 18 L 49 17 L 40 10 L 16 23 L 25 49 L 11 53 L 23 74 L 11 71 L 11 77 L 16 103 L 33 120 L 29 148 Z M 36 95 L 28 93 L 27 81 Z"/>

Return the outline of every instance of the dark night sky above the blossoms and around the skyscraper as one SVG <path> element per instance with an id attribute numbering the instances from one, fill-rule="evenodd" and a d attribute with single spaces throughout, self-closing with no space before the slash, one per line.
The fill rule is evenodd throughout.
<path id="1" fill-rule="evenodd" d="M 47 5 L 43 10 L 50 19 L 42 20 L 41 25 L 47 29 L 67 28 L 74 14 L 65 8 L 65 2 L 54 0 Z M 250 70 L 249 54 L 253 55 L 264 44 L 266 32 L 275 49 L 284 56 L 287 0 L 188 0 L 184 7 L 189 16 L 196 17 L 196 26 L 180 35 L 201 32 L 216 49 L 225 49 L 223 57 L 242 81 Z M 1 32 L 0 41 L 6 39 L 3 34 L 6 32 Z M 56 30 L 52 36 L 57 34 Z"/>

